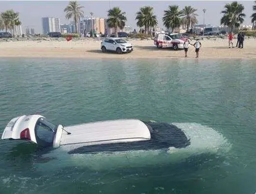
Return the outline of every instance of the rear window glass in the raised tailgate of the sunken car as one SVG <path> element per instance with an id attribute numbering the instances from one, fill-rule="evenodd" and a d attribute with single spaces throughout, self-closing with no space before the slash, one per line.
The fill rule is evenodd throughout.
<path id="1" fill-rule="evenodd" d="M 35 135 L 37 144 L 43 147 L 52 146 L 56 130 L 56 125 L 49 122 L 43 117 L 39 118 L 35 125 Z"/>

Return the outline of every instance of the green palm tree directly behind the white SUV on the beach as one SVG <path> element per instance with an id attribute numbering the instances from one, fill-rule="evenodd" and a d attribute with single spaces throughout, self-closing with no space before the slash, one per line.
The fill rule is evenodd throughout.
<path id="1" fill-rule="evenodd" d="M 113 7 L 108 11 L 108 18 L 106 20 L 109 28 L 115 28 L 116 37 L 118 37 L 118 28 L 123 29 L 125 26 L 125 21 L 127 18 L 125 16 L 125 12 L 122 12 L 119 7 Z"/>

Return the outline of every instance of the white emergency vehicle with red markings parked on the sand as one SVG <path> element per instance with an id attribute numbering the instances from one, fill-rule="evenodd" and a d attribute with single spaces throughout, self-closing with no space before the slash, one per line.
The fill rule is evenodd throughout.
<path id="1" fill-rule="evenodd" d="M 185 40 L 189 39 L 178 33 L 158 33 L 154 38 L 154 45 L 156 45 L 157 48 L 170 47 L 174 50 L 178 50 L 183 49 Z"/>

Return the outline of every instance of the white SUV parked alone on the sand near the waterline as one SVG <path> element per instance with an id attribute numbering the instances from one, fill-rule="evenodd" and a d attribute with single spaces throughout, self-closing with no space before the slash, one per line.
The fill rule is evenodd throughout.
<path id="1" fill-rule="evenodd" d="M 134 49 L 131 43 L 121 38 L 106 38 L 101 43 L 101 50 L 105 53 L 107 50 L 116 51 L 118 54 L 129 53 Z"/>

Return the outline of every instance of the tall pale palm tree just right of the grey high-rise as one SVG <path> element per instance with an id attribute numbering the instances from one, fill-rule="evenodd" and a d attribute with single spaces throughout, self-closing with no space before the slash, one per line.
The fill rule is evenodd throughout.
<path id="1" fill-rule="evenodd" d="M 78 20 L 79 18 L 84 18 L 84 11 L 82 10 L 84 6 L 80 6 L 76 0 L 69 1 L 68 6 L 64 9 L 66 12 L 66 19 L 69 20 L 71 17 L 74 18 L 75 21 L 75 33 L 78 31 Z"/>

